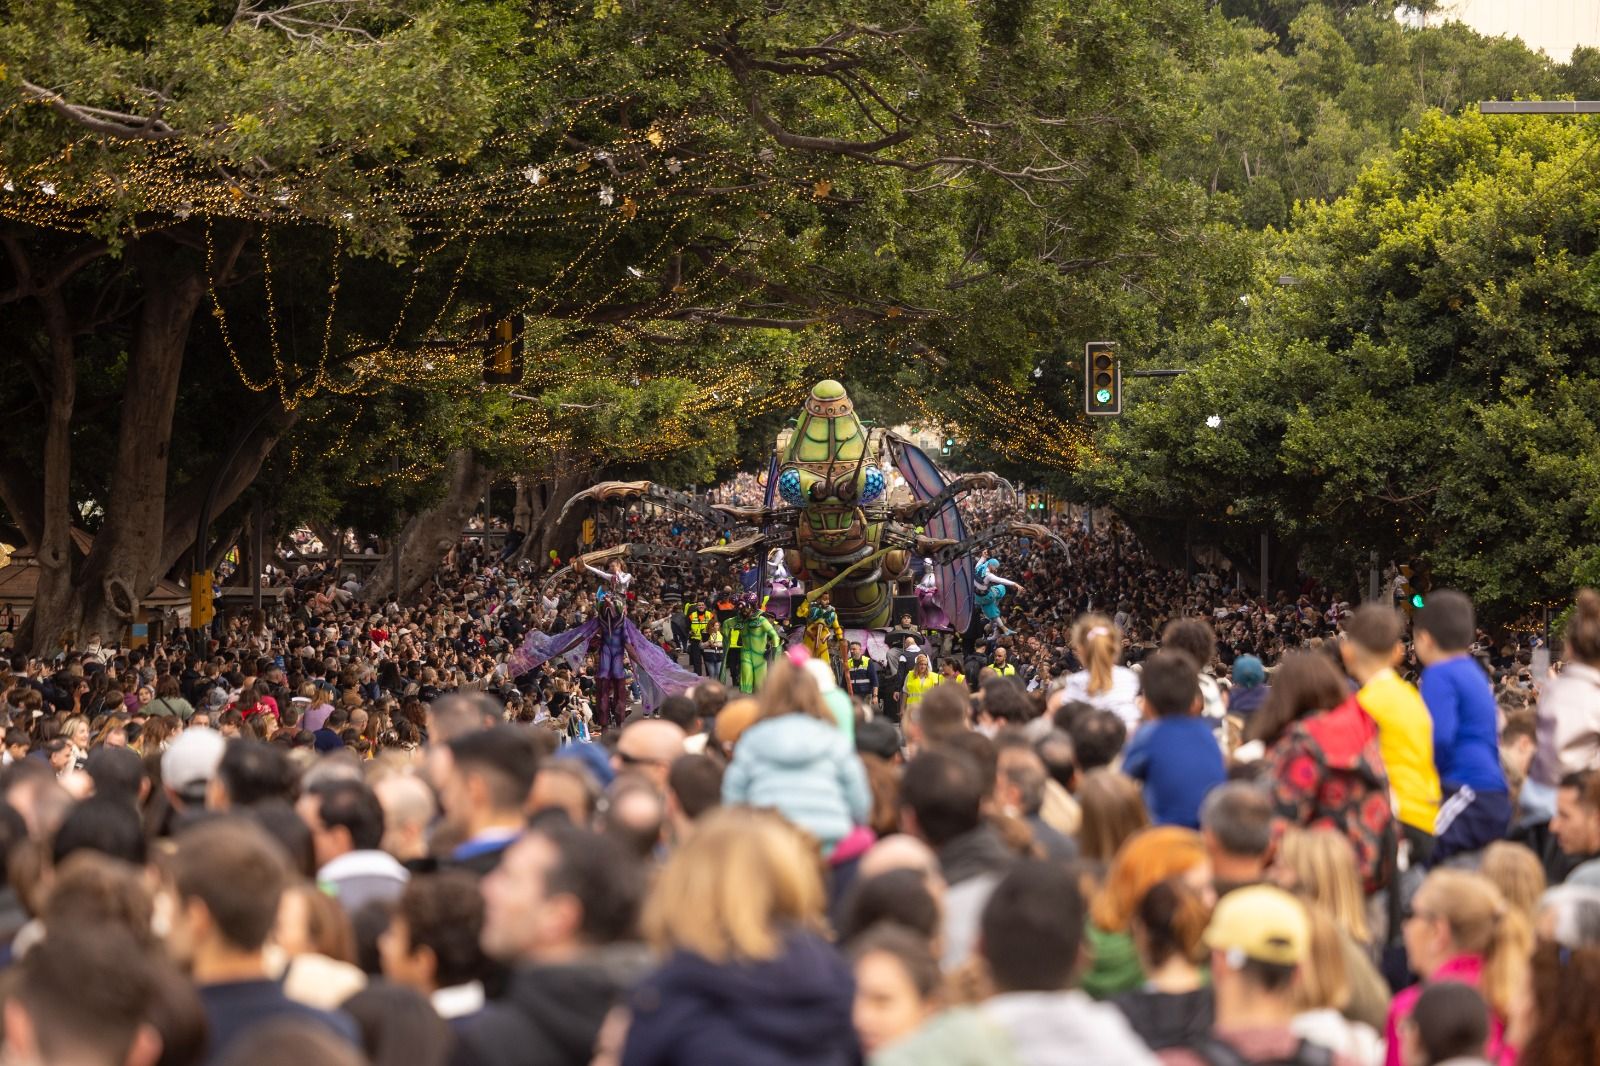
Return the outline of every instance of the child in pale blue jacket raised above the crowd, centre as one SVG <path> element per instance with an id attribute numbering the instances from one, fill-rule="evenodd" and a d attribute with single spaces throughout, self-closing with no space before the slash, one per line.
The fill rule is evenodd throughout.
<path id="1" fill-rule="evenodd" d="M 872 789 L 854 744 L 790 650 L 766 672 L 758 717 L 739 735 L 722 778 L 728 807 L 770 807 L 832 855 L 872 815 Z"/>

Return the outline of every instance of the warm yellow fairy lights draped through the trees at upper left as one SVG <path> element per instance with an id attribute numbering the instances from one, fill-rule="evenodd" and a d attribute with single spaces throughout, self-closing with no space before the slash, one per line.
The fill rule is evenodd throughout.
<path id="1" fill-rule="evenodd" d="M 555 78 L 571 77 L 576 69 L 600 61 L 603 56 L 558 64 L 530 78 L 514 93 L 512 102 L 531 101 Z M 323 187 L 323 179 L 334 168 L 374 150 L 373 138 L 355 138 L 342 152 L 330 154 L 293 176 L 253 179 L 221 174 L 195 158 L 182 141 L 109 141 L 85 133 L 48 158 L 35 160 L 16 173 L 0 165 L 0 218 L 85 232 L 96 208 L 125 203 L 128 190 L 136 190 L 139 213 L 134 218 L 146 219 L 146 229 L 134 224 L 130 230 L 134 235 L 171 224 L 173 219 L 203 219 L 210 312 L 240 383 L 254 392 L 275 389 L 288 410 L 326 391 L 350 397 L 357 403 L 357 413 L 363 397 L 397 379 L 426 387 L 475 387 L 482 347 L 475 336 L 466 335 L 474 309 L 462 307 L 459 295 L 478 242 L 486 235 L 546 238 L 560 234 L 571 242 L 574 251 L 547 277 L 531 279 L 522 296 L 504 309 L 504 314 L 525 317 L 530 328 L 536 322 L 552 327 L 549 344 L 536 355 L 530 349 L 522 387 L 541 394 L 570 386 L 574 378 L 638 379 L 648 373 L 645 365 L 650 362 L 651 338 L 704 344 L 718 336 L 731 336 L 733 327 L 722 327 L 717 319 L 738 315 L 749 287 L 749 282 L 741 288 L 741 283 L 730 280 L 734 274 L 731 267 L 762 251 L 763 230 L 779 211 L 805 200 L 838 200 L 834 194 L 835 178 L 821 170 L 779 179 L 763 171 L 760 158 L 699 146 L 699 120 L 693 114 L 662 115 L 645 128 L 618 130 L 603 144 L 573 147 L 574 130 L 586 118 L 600 117 L 629 91 L 661 77 L 669 67 L 714 62 L 717 61 L 707 53 L 686 45 L 608 94 L 566 104 L 560 114 L 541 120 L 539 128 L 507 128 L 478 146 L 480 157 L 493 152 L 510 155 L 517 146 L 530 142 L 563 146 L 563 150 L 539 160 L 507 158 L 498 168 L 464 173 L 448 181 L 426 181 L 459 163 L 448 152 L 374 166 L 371 173 L 363 171 L 370 192 L 360 203 L 326 205 L 309 195 L 309 190 Z M 30 102 L 13 101 L 0 107 L 0 122 L 26 106 Z M 78 187 L 64 187 L 50 178 L 62 163 L 70 162 L 74 152 L 90 149 L 106 157 L 96 176 Z M 627 320 L 584 322 L 622 298 L 635 283 L 669 277 L 667 264 L 672 256 L 682 254 L 682 248 L 691 240 L 725 226 L 723 219 L 734 216 L 733 211 L 707 211 L 707 200 L 733 203 L 752 195 L 763 195 L 771 203 L 731 238 L 718 234 L 722 248 L 699 271 L 672 285 L 658 285 L 658 291 L 640 301 Z M 270 362 L 270 370 L 266 371 L 253 371 L 250 360 L 240 352 L 240 333 L 230 325 L 227 304 L 216 287 L 222 254 L 219 243 L 224 242 L 216 230 L 224 222 L 230 230 L 237 230 L 240 224 L 256 229 Z M 299 365 L 288 365 L 283 357 L 275 275 L 285 267 L 277 262 L 278 250 L 272 238 L 275 227 L 306 222 L 325 226 L 334 237 L 322 351 L 314 355 L 314 370 L 309 373 Z M 392 327 L 376 341 L 347 338 L 338 328 L 341 277 L 350 259 L 362 254 L 354 246 L 362 222 L 403 230 L 414 248 L 411 282 L 400 298 Z M 634 261 L 618 277 L 597 285 L 595 272 L 606 269 L 606 264 L 614 267 L 611 254 L 618 242 L 638 226 L 653 227 L 656 238 L 645 251 L 632 256 Z M 424 291 L 422 279 L 442 259 L 451 269 L 446 293 L 422 319 L 429 322 L 424 335 L 437 336 L 438 341 L 426 351 L 406 351 L 400 338 L 419 311 L 414 304 Z M 562 307 L 557 298 L 573 291 L 590 295 L 576 307 Z M 702 307 L 704 314 L 691 314 L 691 309 Z M 890 307 L 891 315 L 894 311 Z M 560 312 L 562 322 L 547 319 L 555 312 Z M 648 439 L 618 439 L 606 442 L 606 447 L 614 455 L 640 459 L 670 455 L 691 447 L 701 437 L 706 419 L 726 418 L 730 410 L 755 416 L 797 405 L 816 376 L 840 376 L 854 360 L 883 352 L 882 336 L 867 330 L 845 336 L 845 330 L 835 322 L 838 315 L 827 309 L 816 317 L 816 327 L 760 354 L 714 362 L 704 368 L 674 368 L 672 376 L 688 383 L 688 394 L 677 408 L 651 423 Z M 581 323 L 581 328 L 573 323 Z M 459 339 L 451 343 L 451 335 Z M 350 349 L 366 346 L 371 347 L 370 352 L 349 357 Z M 1086 440 L 1082 431 L 1048 416 L 1006 386 L 987 395 L 974 394 L 970 403 L 973 424 L 1010 427 L 1010 432 L 992 439 L 998 450 L 1018 458 L 1051 466 L 1070 464 L 1077 461 Z M 926 410 L 926 405 L 922 407 L 930 424 L 949 421 Z M 347 415 L 341 419 L 344 426 L 336 445 L 339 450 L 354 424 Z M 526 435 L 530 448 L 544 453 L 571 447 L 578 439 L 576 421 L 554 415 L 541 403 L 520 403 L 514 416 L 517 432 Z M 291 461 L 298 461 L 298 456 L 291 456 Z M 429 472 L 403 471 L 400 477 L 419 479 Z M 392 477 L 394 474 L 384 474 L 384 479 Z"/>

